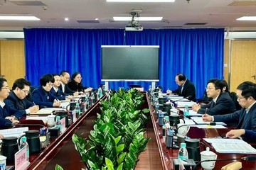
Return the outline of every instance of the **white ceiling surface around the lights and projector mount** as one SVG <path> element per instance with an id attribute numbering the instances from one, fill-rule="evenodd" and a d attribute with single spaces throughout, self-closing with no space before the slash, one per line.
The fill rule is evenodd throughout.
<path id="1" fill-rule="evenodd" d="M 176 0 L 174 3 L 107 3 L 105 0 L 23 0 L 46 6 L 21 6 L 21 0 L 0 0 L 0 14 L 31 14 L 41 21 L 0 21 L 0 30 L 23 27 L 47 28 L 124 28 L 127 22 L 112 21 L 113 16 L 130 16 L 142 9 L 141 16 L 163 16 L 161 22 L 140 22 L 144 28 L 220 28 L 256 30 L 256 21 L 236 21 L 240 16 L 256 16 L 255 0 Z M 235 6 L 235 4 L 239 4 Z M 16 3 L 16 4 L 14 4 Z M 232 4 L 233 5 L 230 5 Z M 248 5 L 249 4 L 249 5 Z M 64 21 L 64 18 L 70 21 Z M 99 23 L 78 23 L 94 21 Z M 185 25 L 206 23 L 206 25 Z"/>

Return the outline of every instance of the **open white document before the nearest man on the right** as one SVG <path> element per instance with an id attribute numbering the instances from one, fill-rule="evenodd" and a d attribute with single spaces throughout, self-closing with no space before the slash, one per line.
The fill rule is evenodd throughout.
<path id="1" fill-rule="evenodd" d="M 218 153 L 256 154 L 256 149 L 243 140 L 223 138 L 203 138 Z"/>

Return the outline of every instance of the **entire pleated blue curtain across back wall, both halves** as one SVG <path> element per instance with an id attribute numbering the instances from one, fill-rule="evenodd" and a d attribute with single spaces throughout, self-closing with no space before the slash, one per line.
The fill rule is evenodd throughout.
<path id="1" fill-rule="evenodd" d="M 159 82 L 176 89 L 175 75 L 182 72 L 201 98 L 206 82 L 223 79 L 224 29 L 124 29 L 24 28 L 26 78 L 39 84 L 41 75 L 61 70 L 81 72 L 82 84 L 97 88 L 101 77 L 101 45 L 159 45 Z M 71 76 L 71 75 L 70 75 Z M 110 82 L 111 89 L 150 82 Z"/>

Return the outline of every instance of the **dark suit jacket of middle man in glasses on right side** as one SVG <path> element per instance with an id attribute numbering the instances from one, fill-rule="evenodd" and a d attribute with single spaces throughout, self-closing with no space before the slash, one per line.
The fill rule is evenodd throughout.
<path id="1" fill-rule="evenodd" d="M 224 115 L 227 113 L 234 113 L 235 111 L 235 104 L 228 93 L 221 92 L 216 103 L 214 103 L 214 101 L 210 101 L 210 103 L 202 105 L 198 110 L 198 113 L 207 113 L 208 115 Z"/>

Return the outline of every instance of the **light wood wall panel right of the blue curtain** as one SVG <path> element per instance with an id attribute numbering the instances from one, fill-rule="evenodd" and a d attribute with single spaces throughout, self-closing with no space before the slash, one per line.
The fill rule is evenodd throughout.
<path id="1" fill-rule="evenodd" d="M 256 40 L 232 40 L 231 41 L 231 75 L 230 89 L 236 91 L 236 87 L 243 81 L 256 82 L 252 78 L 256 74 Z"/>

